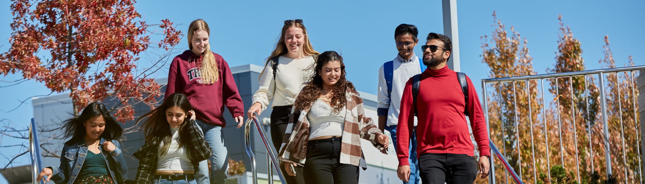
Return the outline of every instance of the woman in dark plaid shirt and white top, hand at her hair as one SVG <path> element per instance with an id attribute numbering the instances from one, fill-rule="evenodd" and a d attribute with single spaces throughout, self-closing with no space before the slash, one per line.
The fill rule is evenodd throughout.
<path id="1" fill-rule="evenodd" d="M 192 109 L 186 95 L 174 93 L 137 120 L 148 117 L 141 127 L 146 143 L 134 152 L 139 159 L 136 183 L 197 183 L 199 161 L 210 157 L 211 149 Z"/>

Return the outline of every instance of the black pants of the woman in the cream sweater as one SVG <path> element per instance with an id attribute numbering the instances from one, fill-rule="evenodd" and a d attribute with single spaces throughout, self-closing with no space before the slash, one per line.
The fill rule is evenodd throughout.
<path id="1" fill-rule="evenodd" d="M 273 107 L 271 112 L 271 142 L 273 142 L 273 147 L 275 147 L 276 156 L 280 153 L 280 145 L 283 143 L 284 132 L 286 131 L 286 125 L 289 124 L 289 115 L 291 115 L 292 106 L 276 106 Z M 295 176 L 289 176 L 286 174 L 284 167 L 280 167 L 282 173 L 284 173 L 284 179 L 288 184 L 304 184 L 303 176 L 303 167 L 295 167 Z"/>

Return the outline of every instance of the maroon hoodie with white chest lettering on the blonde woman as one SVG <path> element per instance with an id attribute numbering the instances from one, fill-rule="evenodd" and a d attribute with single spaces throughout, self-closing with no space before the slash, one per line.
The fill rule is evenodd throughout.
<path id="1" fill-rule="evenodd" d="M 219 69 L 219 80 L 214 84 L 201 84 L 201 55 L 195 55 L 186 50 L 177 55 L 170 64 L 168 71 L 168 86 L 165 97 L 172 93 L 183 93 L 188 96 L 190 105 L 193 106 L 197 119 L 205 123 L 226 127 L 224 120 L 224 106 L 231 112 L 233 118 L 244 115 L 244 104 L 235 79 L 228 68 L 228 63 L 221 55 L 215 55 L 215 62 Z"/>

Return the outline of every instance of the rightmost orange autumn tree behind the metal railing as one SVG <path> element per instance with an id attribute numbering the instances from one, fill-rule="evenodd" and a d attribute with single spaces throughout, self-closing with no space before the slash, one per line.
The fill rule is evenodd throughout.
<path id="1" fill-rule="evenodd" d="M 604 59 L 599 60 L 599 62 L 603 64 L 602 68 L 616 68 L 610 48 L 609 36 L 604 37 L 604 42 L 605 45 L 602 46 L 604 48 Z M 628 57 L 628 63 L 630 66 L 634 66 L 631 56 Z M 639 94 L 638 88 L 635 87 L 635 77 L 638 77 L 638 73 L 608 73 L 604 76 L 612 173 L 620 182 L 639 183 L 640 177 L 642 177 L 640 176 L 640 149 L 638 147 L 640 133 L 637 132 L 637 130 L 640 130 L 640 124 L 636 122 L 639 115 L 636 113 L 638 110 L 635 109 L 638 107 L 638 104 L 635 104 L 636 96 Z M 624 136 L 619 136 L 620 134 Z M 604 149 L 604 142 L 599 140 L 597 144 L 599 149 Z M 604 157 L 602 161 L 604 161 Z M 603 170 L 600 171 L 606 172 L 604 162 L 602 164 Z"/>

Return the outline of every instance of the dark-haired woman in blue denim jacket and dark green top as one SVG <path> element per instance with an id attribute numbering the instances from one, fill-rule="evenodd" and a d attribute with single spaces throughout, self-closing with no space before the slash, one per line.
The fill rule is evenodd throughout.
<path id="1" fill-rule="evenodd" d="M 81 115 L 63 122 L 64 143 L 60 167 L 46 167 L 37 181 L 50 179 L 54 183 L 124 183 L 128 176 L 121 144 L 121 125 L 110 116 L 108 109 L 94 102 Z M 43 178 L 43 176 L 47 176 Z"/>

